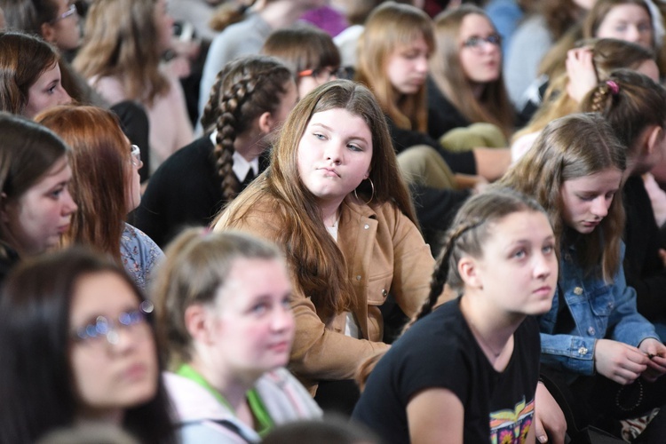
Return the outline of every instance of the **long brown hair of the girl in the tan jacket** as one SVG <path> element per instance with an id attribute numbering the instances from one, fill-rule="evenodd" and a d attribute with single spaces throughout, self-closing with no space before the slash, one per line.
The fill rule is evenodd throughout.
<path id="1" fill-rule="evenodd" d="M 390 202 L 416 224 L 384 114 L 365 86 L 348 80 L 324 83 L 298 102 L 271 152 L 271 166 L 229 204 L 224 214 L 225 226 L 234 228 L 242 225 L 242 219 L 258 202 L 272 203 L 271 218 L 281 226 L 274 241 L 286 249 L 295 286 L 312 297 L 323 321 L 349 308 L 353 289 L 345 257 L 327 232 L 314 195 L 298 174 L 297 148 L 310 118 L 335 108 L 360 116 L 372 133 L 369 178 L 375 191 L 372 194 L 369 186 L 361 184 L 357 188 L 360 199 L 366 202 L 371 198 L 370 207 Z M 218 220 L 220 216 L 213 225 Z"/>

